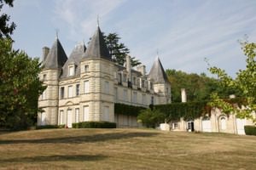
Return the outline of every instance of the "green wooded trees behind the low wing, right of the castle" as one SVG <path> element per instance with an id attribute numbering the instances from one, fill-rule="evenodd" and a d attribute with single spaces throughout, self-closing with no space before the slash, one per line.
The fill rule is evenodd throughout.
<path id="1" fill-rule="evenodd" d="M 181 102 L 181 88 L 185 88 L 188 101 L 209 100 L 212 92 L 221 94 L 221 97 L 228 97 L 230 94 L 240 96 L 236 89 L 224 88 L 219 85 L 218 80 L 207 77 L 206 74 L 201 75 L 195 73 L 186 73 L 183 71 L 166 70 L 170 82 L 172 82 L 172 102 Z"/>

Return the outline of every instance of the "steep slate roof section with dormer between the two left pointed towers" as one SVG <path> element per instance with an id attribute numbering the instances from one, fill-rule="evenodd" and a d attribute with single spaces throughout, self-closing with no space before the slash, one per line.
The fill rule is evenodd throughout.
<path id="1" fill-rule="evenodd" d="M 67 59 L 67 62 L 62 67 L 62 74 L 61 78 L 68 77 L 68 65 L 74 64 L 76 69 L 74 72 L 74 77 L 80 75 L 80 61 L 85 54 L 86 47 L 84 43 L 79 43 L 78 45 L 73 48 L 72 53 L 70 54 L 69 58 Z"/>

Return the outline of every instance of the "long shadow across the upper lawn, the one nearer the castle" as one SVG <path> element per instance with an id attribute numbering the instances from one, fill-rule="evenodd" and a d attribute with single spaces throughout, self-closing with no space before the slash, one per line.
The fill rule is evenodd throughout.
<path id="1" fill-rule="evenodd" d="M 104 133 L 104 134 L 92 134 L 84 136 L 72 136 L 61 138 L 48 138 L 48 139 L 8 139 L 1 140 L 0 144 L 55 144 L 55 143 L 91 143 L 91 142 L 103 142 L 113 139 L 130 139 L 136 137 L 150 137 L 157 133 Z"/>

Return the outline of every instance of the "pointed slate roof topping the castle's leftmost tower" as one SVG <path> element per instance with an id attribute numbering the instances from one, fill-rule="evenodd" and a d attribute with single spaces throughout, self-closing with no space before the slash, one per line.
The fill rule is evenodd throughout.
<path id="1" fill-rule="evenodd" d="M 67 61 L 67 55 L 62 48 L 61 42 L 56 38 L 52 47 L 49 50 L 49 54 L 44 60 L 45 69 L 58 69 L 61 68 Z"/>

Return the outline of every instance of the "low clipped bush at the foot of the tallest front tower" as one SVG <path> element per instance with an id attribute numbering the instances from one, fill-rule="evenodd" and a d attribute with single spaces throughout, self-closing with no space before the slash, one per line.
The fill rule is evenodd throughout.
<path id="1" fill-rule="evenodd" d="M 116 128 L 115 122 L 75 122 L 73 128 Z"/>

